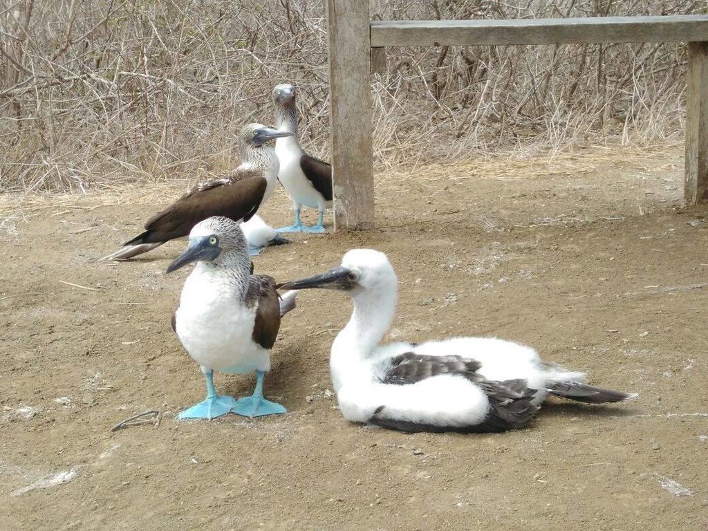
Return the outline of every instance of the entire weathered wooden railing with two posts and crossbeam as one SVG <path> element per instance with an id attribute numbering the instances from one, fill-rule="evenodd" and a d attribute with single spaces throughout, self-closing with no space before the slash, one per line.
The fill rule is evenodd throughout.
<path id="1" fill-rule="evenodd" d="M 367 0 L 327 0 L 335 228 L 374 223 L 370 72 L 390 46 L 687 42 L 685 201 L 708 202 L 708 15 L 370 21 Z"/>

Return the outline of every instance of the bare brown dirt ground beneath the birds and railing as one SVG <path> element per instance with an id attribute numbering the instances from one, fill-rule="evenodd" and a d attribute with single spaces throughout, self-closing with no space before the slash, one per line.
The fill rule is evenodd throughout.
<path id="1" fill-rule="evenodd" d="M 351 306 L 319 291 L 284 319 L 265 380 L 290 413 L 176 421 L 205 392 L 170 328 L 188 268 L 164 270 L 183 244 L 96 259 L 185 183 L 0 196 L 0 529 L 708 530 L 708 209 L 681 206 L 682 155 L 595 147 L 379 174 L 377 229 L 256 258 L 290 280 L 385 251 L 401 282 L 389 338 L 509 338 L 639 392 L 552 401 L 495 435 L 344 421 L 328 357 Z M 290 223 L 282 190 L 262 213 Z M 216 378 L 235 396 L 253 382 Z M 146 410 L 159 426 L 110 430 Z"/>

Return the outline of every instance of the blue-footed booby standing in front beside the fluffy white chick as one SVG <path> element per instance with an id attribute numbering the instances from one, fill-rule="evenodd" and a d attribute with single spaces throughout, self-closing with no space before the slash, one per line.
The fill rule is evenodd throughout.
<path id="1" fill-rule="evenodd" d="M 251 274 L 244 233 L 227 217 L 196 224 L 188 248 L 167 273 L 190 262 L 197 265 L 185 280 L 172 326 L 207 379 L 207 398 L 178 418 L 285 413 L 285 407 L 263 398 L 263 377 L 270 370 L 270 349 L 278 336 L 280 316 L 295 307 L 296 295 L 288 292 L 279 302 L 273 278 Z M 215 370 L 256 371 L 253 396 L 236 401 L 218 395 L 212 381 Z"/>

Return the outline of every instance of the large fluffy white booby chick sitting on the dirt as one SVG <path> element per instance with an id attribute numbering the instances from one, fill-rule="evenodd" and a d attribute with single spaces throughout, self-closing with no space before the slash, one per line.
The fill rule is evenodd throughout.
<path id="1" fill-rule="evenodd" d="M 496 338 L 379 346 L 398 298 L 396 273 L 379 251 L 349 251 L 339 267 L 281 287 L 353 297 L 353 314 L 330 357 L 339 409 L 349 421 L 406 432 L 504 431 L 530 423 L 548 394 L 591 404 L 636 396 L 586 384 L 583 372 Z"/>

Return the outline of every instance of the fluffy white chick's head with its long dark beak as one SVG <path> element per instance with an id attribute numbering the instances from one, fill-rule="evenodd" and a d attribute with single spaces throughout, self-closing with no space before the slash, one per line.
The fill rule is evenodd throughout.
<path id="1" fill-rule="evenodd" d="M 352 249 L 342 257 L 341 265 L 326 273 L 286 282 L 285 290 L 325 288 L 343 290 L 357 295 L 360 292 L 379 292 L 396 287 L 398 279 L 387 256 L 374 249 Z"/>

